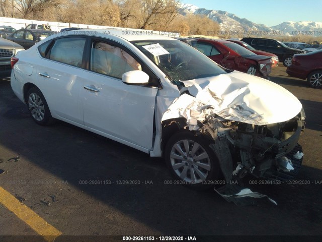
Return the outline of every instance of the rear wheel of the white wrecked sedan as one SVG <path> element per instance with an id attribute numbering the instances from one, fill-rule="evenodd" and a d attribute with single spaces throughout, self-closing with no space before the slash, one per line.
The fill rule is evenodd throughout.
<path id="1" fill-rule="evenodd" d="M 53 122 L 46 99 L 37 87 L 28 90 L 27 106 L 32 119 L 38 125 L 49 125 Z"/>

